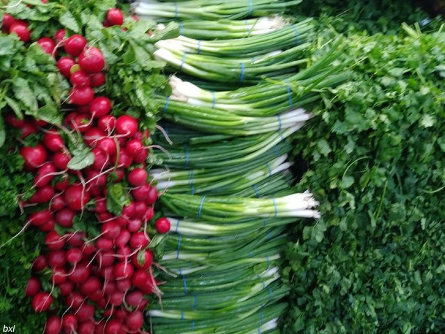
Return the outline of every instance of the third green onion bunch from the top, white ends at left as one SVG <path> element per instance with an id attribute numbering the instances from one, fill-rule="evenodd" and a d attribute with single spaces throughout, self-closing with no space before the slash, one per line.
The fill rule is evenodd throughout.
<path id="1" fill-rule="evenodd" d="M 156 42 L 158 49 L 181 51 L 186 54 L 199 54 L 202 56 L 218 56 L 220 61 L 226 58 L 252 58 L 276 50 L 301 47 L 304 50 L 309 45 L 313 35 L 312 20 L 284 26 L 282 29 L 253 35 L 247 38 L 231 40 L 196 40 L 180 35 L 177 38 Z M 304 46 L 304 47 L 302 47 Z M 224 57 L 224 58 L 223 58 Z"/>

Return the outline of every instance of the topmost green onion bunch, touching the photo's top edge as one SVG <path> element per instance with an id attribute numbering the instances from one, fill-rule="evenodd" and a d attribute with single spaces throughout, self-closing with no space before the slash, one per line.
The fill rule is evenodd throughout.
<path id="1" fill-rule="evenodd" d="M 160 20 L 170 19 L 242 19 L 283 13 L 286 8 L 300 4 L 302 0 L 188 0 L 135 1 L 131 10 L 136 15 Z"/>

